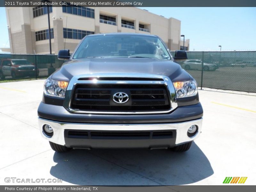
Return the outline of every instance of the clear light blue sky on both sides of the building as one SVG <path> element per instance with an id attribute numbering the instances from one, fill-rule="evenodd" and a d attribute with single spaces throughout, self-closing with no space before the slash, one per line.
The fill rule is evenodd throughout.
<path id="1" fill-rule="evenodd" d="M 181 20 L 190 51 L 256 51 L 256 7 L 142 7 Z M 0 47 L 10 47 L 5 8 L 0 7 Z M 1 51 L 0 51 L 1 52 Z"/>

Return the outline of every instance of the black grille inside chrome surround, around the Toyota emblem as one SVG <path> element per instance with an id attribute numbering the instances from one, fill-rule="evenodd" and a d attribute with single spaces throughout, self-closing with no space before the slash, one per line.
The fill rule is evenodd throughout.
<path id="1" fill-rule="evenodd" d="M 125 103 L 116 103 L 113 95 L 126 93 Z M 77 84 L 71 99 L 71 108 L 84 111 L 164 111 L 171 108 L 164 84 Z"/>

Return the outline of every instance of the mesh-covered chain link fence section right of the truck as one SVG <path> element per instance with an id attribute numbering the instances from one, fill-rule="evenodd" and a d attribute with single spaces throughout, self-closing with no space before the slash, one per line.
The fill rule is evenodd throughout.
<path id="1" fill-rule="evenodd" d="M 256 92 L 256 51 L 188 51 L 187 54 L 188 60 L 179 64 L 196 79 L 199 87 Z"/>

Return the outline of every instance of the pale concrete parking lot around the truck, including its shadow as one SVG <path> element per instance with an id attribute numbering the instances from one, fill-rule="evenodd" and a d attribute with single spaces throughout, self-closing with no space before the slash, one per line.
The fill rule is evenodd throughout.
<path id="1" fill-rule="evenodd" d="M 184 153 L 165 149 L 57 153 L 41 137 L 37 124 L 43 84 L 44 80 L 0 83 L 1 185 L 8 184 L 6 177 L 62 179 L 50 185 L 221 185 L 225 177 L 248 177 L 242 185 L 255 184 L 256 96 L 199 90 L 203 130 Z"/>

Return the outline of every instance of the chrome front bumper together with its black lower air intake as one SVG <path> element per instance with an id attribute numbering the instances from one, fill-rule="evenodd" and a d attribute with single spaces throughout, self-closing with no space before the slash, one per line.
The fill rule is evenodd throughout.
<path id="1" fill-rule="evenodd" d="M 45 139 L 67 147 L 161 148 L 174 147 L 195 140 L 201 133 L 202 120 L 203 118 L 166 124 L 85 124 L 64 123 L 39 117 L 38 121 L 41 134 Z M 46 137 L 43 133 L 43 126 L 45 124 L 49 124 L 53 129 L 53 136 L 51 138 Z M 192 138 L 187 135 L 188 128 L 191 125 L 198 127 L 196 135 Z M 133 136 L 126 137 L 123 134 L 124 132 Z M 113 137 L 113 133 L 118 136 Z M 80 137 L 79 134 L 82 136 Z M 106 136 L 107 134 L 111 135 L 108 137 Z"/>

